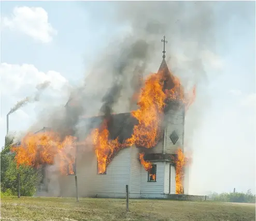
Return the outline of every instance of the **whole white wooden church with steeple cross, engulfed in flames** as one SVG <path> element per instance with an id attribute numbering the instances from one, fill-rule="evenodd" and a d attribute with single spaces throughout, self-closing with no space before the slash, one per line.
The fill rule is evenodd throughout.
<path id="1" fill-rule="evenodd" d="M 162 41 L 165 45 L 165 37 Z M 159 71 L 140 85 L 131 112 L 81 116 L 79 131 L 86 130 L 79 140 L 72 134 L 60 138 L 44 128 L 27 134 L 13 148 L 18 165 L 40 168 L 37 195 L 75 197 L 74 175 L 80 197 L 125 197 L 127 184 L 131 198 L 188 194 L 183 146 L 184 116 L 191 99 L 169 71 L 165 49 L 163 53 Z M 72 99 L 65 107 L 68 114 Z"/>

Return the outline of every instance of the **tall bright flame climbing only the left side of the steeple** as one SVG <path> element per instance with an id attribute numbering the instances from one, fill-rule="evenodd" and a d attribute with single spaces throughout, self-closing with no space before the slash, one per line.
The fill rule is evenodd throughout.
<path id="1" fill-rule="evenodd" d="M 166 94 L 161 84 L 161 74 L 152 74 L 141 90 L 138 105 L 139 108 L 132 112 L 132 116 L 138 120 L 134 126 L 133 135 L 126 140 L 127 145 L 135 144 L 139 147 L 151 148 L 158 143 L 160 138 L 161 117 L 163 114 Z"/>

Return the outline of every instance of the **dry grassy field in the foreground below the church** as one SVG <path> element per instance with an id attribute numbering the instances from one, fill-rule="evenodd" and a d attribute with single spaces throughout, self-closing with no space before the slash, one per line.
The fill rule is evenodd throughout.
<path id="1" fill-rule="evenodd" d="M 255 204 L 247 203 L 139 199 L 130 200 L 129 209 L 125 212 L 125 199 L 4 197 L 1 220 L 255 220 Z"/>

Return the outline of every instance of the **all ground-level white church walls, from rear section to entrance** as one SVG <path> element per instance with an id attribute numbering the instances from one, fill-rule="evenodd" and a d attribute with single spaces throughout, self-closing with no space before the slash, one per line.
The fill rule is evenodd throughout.
<path id="1" fill-rule="evenodd" d="M 79 197 L 124 198 L 125 185 L 129 185 L 130 198 L 164 198 L 175 194 L 175 168 L 169 162 L 152 162 L 157 165 L 157 182 L 148 182 L 148 172 L 138 160 L 139 149 L 125 148 L 113 158 L 106 175 L 97 175 L 94 152 L 77 157 L 77 181 Z M 169 170 L 171 168 L 171 170 Z M 170 171 L 170 172 L 169 172 Z M 51 174 L 47 196 L 75 197 L 75 176 L 58 177 Z M 170 186 L 170 187 L 169 187 Z M 186 194 L 186 187 L 184 191 Z"/>

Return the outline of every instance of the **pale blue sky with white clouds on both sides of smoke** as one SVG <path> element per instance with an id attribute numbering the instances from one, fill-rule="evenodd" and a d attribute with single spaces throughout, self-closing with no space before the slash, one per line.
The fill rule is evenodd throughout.
<path id="1" fill-rule="evenodd" d="M 65 105 L 70 88 L 81 84 L 92 60 L 127 31 L 125 22 L 111 20 L 115 13 L 108 2 L 1 2 L 1 146 L 7 113 L 18 101 L 33 96 L 38 84 L 50 82 L 40 101 L 10 115 L 10 131 L 29 129 L 45 106 Z M 185 136 L 193 150 L 190 192 L 230 192 L 235 187 L 255 193 L 255 3 L 215 2 L 214 15 L 215 49 L 201 55 L 208 59 L 207 83 L 198 87 L 198 101 L 186 116 L 190 134 Z M 182 28 L 178 22 L 177 26 Z M 172 37 L 166 40 L 168 56 Z M 161 39 L 155 41 L 160 65 Z M 182 66 L 181 58 L 174 58 L 176 66 Z"/>

